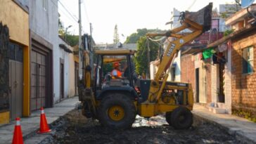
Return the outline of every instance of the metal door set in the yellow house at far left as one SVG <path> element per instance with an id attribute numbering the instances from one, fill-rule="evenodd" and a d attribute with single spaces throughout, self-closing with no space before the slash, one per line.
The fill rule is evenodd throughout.
<path id="1" fill-rule="evenodd" d="M 10 117 L 15 119 L 23 115 L 23 48 L 11 43 L 9 50 Z"/>

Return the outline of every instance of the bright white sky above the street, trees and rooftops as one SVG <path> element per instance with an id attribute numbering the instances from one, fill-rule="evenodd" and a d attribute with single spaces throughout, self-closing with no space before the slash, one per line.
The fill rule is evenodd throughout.
<path id="1" fill-rule="evenodd" d="M 60 20 L 71 34 L 79 33 L 78 1 L 58 0 Z M 213 2 L 213 8 L 219 4 L 233 4 L 235 0 L 81 0 L 82 34 L 90 33 L 89 23 L 93 27 L 92 36 L 96 44 L 113 43 L 115 25 L 117 25 L 120 41 L 137 29 L 168 30 L 165 25 L 171 18 L 173 8 L 179 11 L 198 11 Z"/>

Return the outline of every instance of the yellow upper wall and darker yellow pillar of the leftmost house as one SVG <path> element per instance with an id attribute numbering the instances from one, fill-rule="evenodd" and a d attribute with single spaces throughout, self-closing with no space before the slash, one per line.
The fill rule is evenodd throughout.
<path id="1" fill-rule="evenodd" d="M 0 0 L 0 22 L 9 28 L 10 39 L 23 45 L 23 116 L 30 115 L 29 15 L 11 0 Z"/>

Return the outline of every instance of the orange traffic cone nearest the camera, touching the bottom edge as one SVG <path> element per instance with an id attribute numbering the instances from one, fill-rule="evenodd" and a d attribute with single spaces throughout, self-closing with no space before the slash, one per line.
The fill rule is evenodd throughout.
<path id="1" fill-rule="evenodd" d="M 13 144 L 23 144 L 23 132 L 20 126 L 20 117 L 15 119 L 16 124 L 13 133 Z"/>

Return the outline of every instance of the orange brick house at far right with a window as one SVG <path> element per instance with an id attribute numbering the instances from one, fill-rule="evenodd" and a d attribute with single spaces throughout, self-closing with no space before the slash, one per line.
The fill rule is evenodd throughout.
<path id="1" fill-rule="evenodd" d="M 256 11 L 256 5 L 249 11 Z M 229 113 L 247 112 L 255 116 L 255 19 L 242 9 L 227 18 L 226 25 L 231 25 L 234 32 L 207 46 L 224 49 L 227 53 L 222 76 L 226 90 L 224 103 Z"/>

